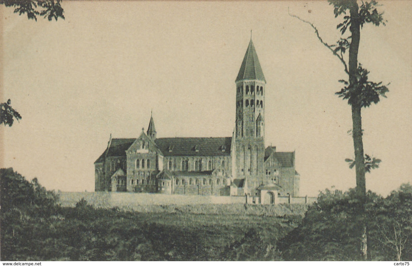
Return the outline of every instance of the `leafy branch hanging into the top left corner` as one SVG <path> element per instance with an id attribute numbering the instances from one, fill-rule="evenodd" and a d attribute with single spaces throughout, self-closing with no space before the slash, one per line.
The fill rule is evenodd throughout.
<path id="1" fill-rule="evenodd" d="M 14 7 L 14 13 L 27 14 L 28 19 L 37 21 L 37 16 L 49 21 L 58 18 L 64 19 L 61 0 L 0 0 L 6 7 Z"/>

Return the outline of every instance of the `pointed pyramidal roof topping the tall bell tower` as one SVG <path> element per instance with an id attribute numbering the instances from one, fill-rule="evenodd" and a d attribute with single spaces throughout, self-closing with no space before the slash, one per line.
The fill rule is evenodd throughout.
<path id="1" fill-rule="evenodd" d="M 236 82 L 242 79 L 258 79 L 266 82 L 252 39 L 250 39 L 248 49 L 246 50 L 245 57 L 243 58 L 242 65 L 239 70 L 239 74 L 237 74 L 236 77 Z"/>

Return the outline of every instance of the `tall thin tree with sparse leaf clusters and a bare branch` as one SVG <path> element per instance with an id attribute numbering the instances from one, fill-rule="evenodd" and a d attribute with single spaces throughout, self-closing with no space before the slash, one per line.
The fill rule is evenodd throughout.
<path id="1" fill-rule="evenodd" d="M 378 103 L 380 96 L 386 97 L 385 94 L 389 91 L 387 85 L 382 85 L 382 82 L 372 82 L 368 79 L 369 71 L 358 63 L 358 50 L 361 40 L 361 28 L 366 23 L 372 23 L 375 26 L 380 24 L 385 25 L 383 12 L 378 12 L 379 4 L 375 0 L 361 2 L 358 4 L 356 0 L 328 0 L 329 4 L 334 7 L 335 18 L 342 17 L 343 21 L 337 25 L 342 37 L 336 44 L 328 44 L 320 37 L 317 28 L 310 23 L 300 19 L 298 16 L 291 15 L 308 23 L 314 28 L 318 39 L 325 47 L 339 58 L 339 61 L 344 66 L 344 71 L 348 75 L 348 79 L 341 79 L 339 82 L 344 84 L 344 87 L 335 93 L 337 96 L 348 100 L 352 111 L 352 138 L 353 147 L 355 150 L 355 170 L 356 170 L 356 193 L 361 201 L 365 201 L 366 197 L 366 182 L 365 182 L 365 157 L 363 151 L 363 130 L 361 110 L 364 107 L 370 107 L 372 103 Z M 347 14 L 349 12 L 349 14 Z M 349 29 L 350 36 L 345 35 Z M 348 63 L 344 56 L 346 50 L 349 49 Z M 388 84 L 389 85 L 389 84 Z M 373 161 L 373 160 L 372 160 Z M 375 161 L 376 163 L 376 161 Z M 378 162 L 379 163 L 379 162 Z M 368 168 L 370 170 L 370 168 Z M 364 259 L 367 258 L 367 230 L 364 226 L 363 237 L 361 240 L 361 252 Z"/>

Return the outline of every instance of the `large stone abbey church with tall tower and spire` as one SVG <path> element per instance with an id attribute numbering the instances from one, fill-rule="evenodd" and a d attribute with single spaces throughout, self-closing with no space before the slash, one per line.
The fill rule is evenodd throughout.
<path id="1" fill-rule="evenodd" d="M 266 79 L 252 40 L 235 84 L 231 137 L 157 138 L 151 116 L 138 138 L 110 135 L 94 163 L 95 191 L 243 196 L 266 190 L 299 196 L 295 152 L 265 147 Z"/>

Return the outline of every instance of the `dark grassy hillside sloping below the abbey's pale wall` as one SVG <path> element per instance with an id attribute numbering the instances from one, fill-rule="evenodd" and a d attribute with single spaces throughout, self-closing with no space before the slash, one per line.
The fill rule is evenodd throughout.
<path id="1" fill-rule="evenodd" d="M 279 259 L 278 254 L 263 257 L 265 250 L 275 252 L 276 241 L 301 220 L 300 215 L 248 214 L 248 206 L 236 214 L 194 213 L 195 207 L 136 212 L 83 203 L 56 208 L 48 217 L 9 215 L 3 217 L 10 226 L 2 232 L 2 260 L 233 260 L 239 253 L 256 259 L 245 245 L 261 249 L 259 259 Z"/>

